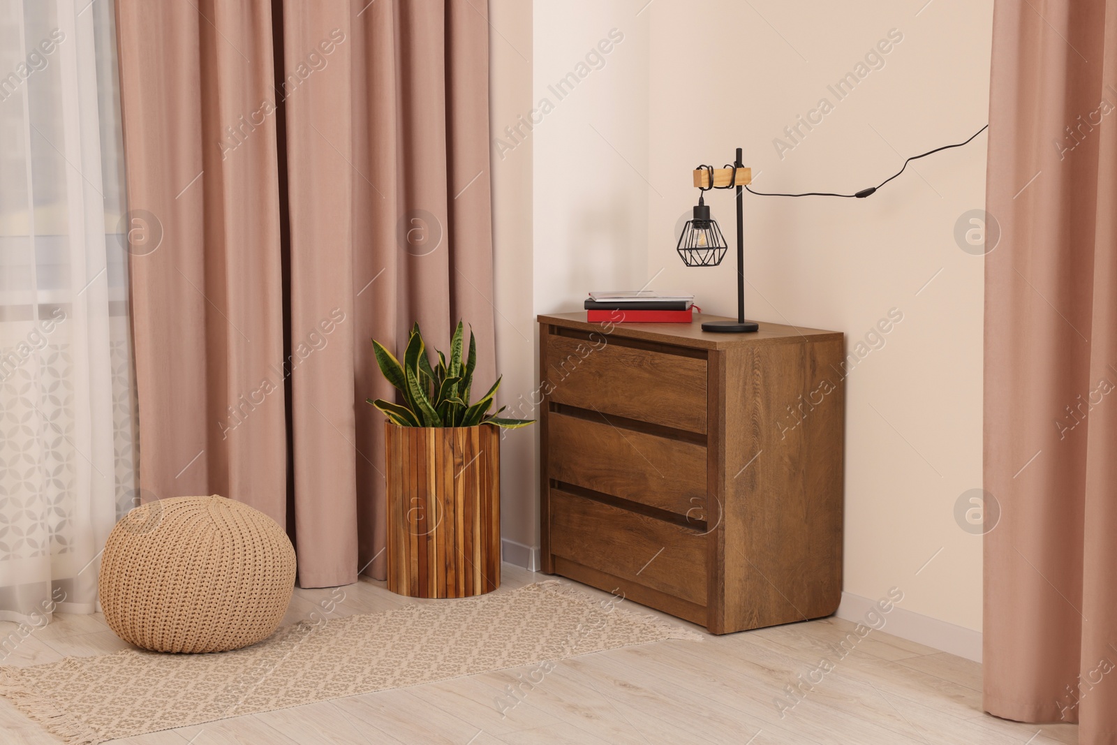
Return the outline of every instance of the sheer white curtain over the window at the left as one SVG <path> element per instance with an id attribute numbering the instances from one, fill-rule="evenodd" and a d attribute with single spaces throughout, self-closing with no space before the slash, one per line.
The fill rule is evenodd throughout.
<path id="1" fill-rule="evenodd" d="M 0 0 L 0 620 L 96 610 L 137 504 L 112 0 Z"/>

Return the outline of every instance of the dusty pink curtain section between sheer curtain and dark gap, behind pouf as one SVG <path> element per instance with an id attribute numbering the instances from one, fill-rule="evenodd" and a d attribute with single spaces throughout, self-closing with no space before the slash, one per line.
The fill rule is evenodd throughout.
<path id="1" fill-rule="evenodd" d="M 266 3 L 117 3 L 146 499 L 222 494 L 285 519 L 279 204 Z M 279 392 L 276 392 L 276 388 Z"/>

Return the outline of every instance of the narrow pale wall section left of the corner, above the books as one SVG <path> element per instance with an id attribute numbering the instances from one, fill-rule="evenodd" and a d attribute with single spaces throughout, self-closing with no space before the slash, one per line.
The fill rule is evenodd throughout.
<path id="1" fill-rule="evenodd" d="M 553 106 L 532 133 L 537 313 L 579 311 L 591 289 L 650 278 L 649 13 L 638 8 L 535 2 L 533 98 Z"/>

